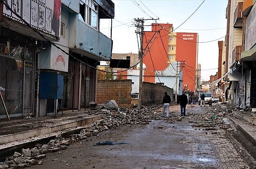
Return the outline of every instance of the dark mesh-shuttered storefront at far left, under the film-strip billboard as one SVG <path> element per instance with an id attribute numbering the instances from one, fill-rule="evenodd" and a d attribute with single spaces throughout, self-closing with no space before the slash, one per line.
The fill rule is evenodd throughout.
<path id="1" fill-rule="evenodd" d="M 0 118 L 33 115 L 35 41 L 0 27 Z"/>

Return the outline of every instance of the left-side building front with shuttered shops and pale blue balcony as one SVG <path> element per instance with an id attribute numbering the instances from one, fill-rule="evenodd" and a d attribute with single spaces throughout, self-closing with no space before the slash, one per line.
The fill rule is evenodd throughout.
<path id="1" fill-rule="evenodd" d="M 23 20 L 14 16 L 14 10 L 4 7 L 3 20 L 6 21 L 1 22 L 3 54 L 0 55 L 5 62 L 1 61 L 0 72 L 5 76 L 1 75 L 0 86 L 8 113 L 37 117 L 51 115 L 55 109 L 80 110 L 89 106 L 90 101 L 95 101 L 97 62 L 110 60 L 112 53 L 112 40 L 99 32 L 99 22 L 114 18 L 114 3 L 110 0 L 42 0 L 29 1 L 29 4 L 23 1 L 19 7 L 22 8 L 16 12 Z M 32 7 L 34 10 L 30 11 Z M 15 41 L 10 39 L 10 34 Z M 63 99 L 40 98 L 43 90 L 40 74 L 44 73 L 63 76 Z M 8 84 L 14 80 L 18 85 Z"/>

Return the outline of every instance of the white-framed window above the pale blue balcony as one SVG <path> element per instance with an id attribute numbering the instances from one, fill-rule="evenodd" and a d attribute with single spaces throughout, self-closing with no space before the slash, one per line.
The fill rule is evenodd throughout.
<path id="1" fill-rule="evenodd" d="M 92 0 L 84 0 L 84 2 L 80 1 L 79 14 L 84 22 L 98 29 L 98 5 Z"/>

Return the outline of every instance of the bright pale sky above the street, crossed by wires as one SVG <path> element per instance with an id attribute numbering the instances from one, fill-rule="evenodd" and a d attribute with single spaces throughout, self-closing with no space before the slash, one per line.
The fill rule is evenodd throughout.
<path id="1" fill-rule="evenodd" d="M 199 7 L 203 0 L 112 0 L 112 2 L 115 4 L 115 17 L 112 20 L 112 53 L 138 53 L 134 18 L 159 17 L 157 23 L 173 24 L 176 28 Z M 175 32 L 199 34 L 199 42 L 203 42 L 198 45 L 198 63 L 201 64 L 202 81 L 208 81 L 209 76 L 218 71 L 215 69 L 218 68 L 218 41 L 225 41 L 223 36 L 226 35 L 227 27 L 225 17 L 227 3 L 227 0 L 205 0 L 195 14 L 175 30 Z M 139 5 L 145 13 L 135 4 Z M 153 21 L 147 21 L 144 25 L 151 23 Z M 111 27 L 111 20 L 100 20 L 100 32 L 108 37 L 110 37 L 109 27 Z M 144 30 L 150 31 L 151 26 L 145 26 Z"/>

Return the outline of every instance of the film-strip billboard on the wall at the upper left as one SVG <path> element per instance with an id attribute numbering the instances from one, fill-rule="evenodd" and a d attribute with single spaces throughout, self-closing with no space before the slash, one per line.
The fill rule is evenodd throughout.
<path id="1" fill-rule="evenodd" d="M 5 3 L 13 12 L 4 6 L 4 16 L 22 22 L 18 14 L 32 27 L 59 37 L 61 0 L 5 0 Z"/>

